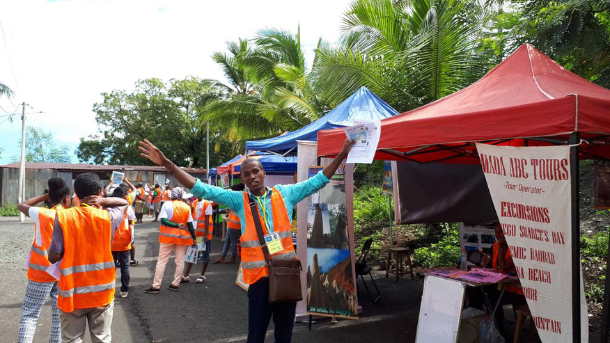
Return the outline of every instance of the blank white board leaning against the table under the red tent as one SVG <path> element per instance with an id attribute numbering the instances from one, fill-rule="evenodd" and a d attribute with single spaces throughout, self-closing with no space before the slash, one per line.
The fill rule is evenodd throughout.
<path id="1" fill-rule="evenodd" d="M 457 342 L 463 302 L 462 282 L 426 276 L 423 282 L 415 342 Z"/>

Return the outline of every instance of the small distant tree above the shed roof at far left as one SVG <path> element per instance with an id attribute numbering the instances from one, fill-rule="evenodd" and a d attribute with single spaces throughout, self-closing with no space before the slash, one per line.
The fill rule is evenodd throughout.
<path id="1" fill-rule="evenodd" d="M 19 140 L 19 149 L 21 140 Z M 26 162 L 46 163 L 70 163 L 70 148 L 67 146 L 57 147 L 53 140 L 53 134 L 41 128 L 28 127 L 26 131 L 25 145 Z M 13 162 L 18 162 L 20 157 L 13 156 Z"/>

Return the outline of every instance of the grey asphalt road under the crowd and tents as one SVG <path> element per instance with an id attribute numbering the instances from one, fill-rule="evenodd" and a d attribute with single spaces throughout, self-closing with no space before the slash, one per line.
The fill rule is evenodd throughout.
<path id="1" fill-rule="evenodd" d="M 197 264 L 190 283 L 178 292 L 167 289 L 175 265 L 169 261 L 159 294 L 145 294 L 153 281 L 157 262 L 158 223 L 136 225 L 135 237 L 139 265 L 130 268 L 130 292 L 118 296 L 120 271 L 117 270 L 117 298 L 112 322 L 114 342 L 244 342 L 247 337 L 247 294 L 235 285 L 237 264 L 210 264 L 207 280 L 195 284 L 193 276 L 201 271 Z M 0 218 L 0 337 L 1 342 L 15 342 L 19 315 L 26 288 L 23 260 L 33 235 L 33 223 L 19 223 L 15 218 Z M 222 242 L 212 241 L 212 260 L 219 256 Z M 230 253 L 229 253 L 230 254 Z M 372 303 L 362 281 L 358 280 L 361 319 L 319 319 L 308 330 L 306 323 L 295 324 L 293 342 L 414 342 L 421 299 L 421 280 L 402 278 L 396 282 L 377 272 L 375 278 L 382 298 Z M 368 279 L 368 276 L 367 276 Z M 368 285 L 371 287 L 370 280 Z M 48 342 L 51 317 L 50 301 L 42 310 L 34 342 Z M 269 324 L 267 342 L 273 342 L 273 324 Z M 86 342 L 91 340 L 86 339 Z"/>

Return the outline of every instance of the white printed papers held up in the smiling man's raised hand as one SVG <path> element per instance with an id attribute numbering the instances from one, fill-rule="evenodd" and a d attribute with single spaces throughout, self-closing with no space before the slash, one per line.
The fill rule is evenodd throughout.
<path id="1" fill-rule="evenodd" d="M 350 141 L 356 141 L 347 154 L 347 163 L 373 163 L 379 143 L 379 120 L 354 120 L 354 126 L 344 129 Z"/>

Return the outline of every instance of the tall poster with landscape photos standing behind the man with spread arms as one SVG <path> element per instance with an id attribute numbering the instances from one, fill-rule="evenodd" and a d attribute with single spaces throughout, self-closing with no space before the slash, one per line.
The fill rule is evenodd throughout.
<path id="1" fill-rule="evenodd" d="M 309 168 L 309 177 L 323 167 Z M 340 166 L 330 183 L 308 198 L 307 312 L 357 318 L 357 297 L 347 237 L 345 174 Z"/>

